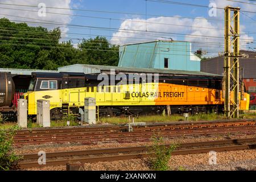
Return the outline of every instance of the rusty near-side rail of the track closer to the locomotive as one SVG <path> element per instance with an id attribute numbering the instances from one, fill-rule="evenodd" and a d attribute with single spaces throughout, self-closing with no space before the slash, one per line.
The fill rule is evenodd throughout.
<path id="1" fill-rule="evenodd" d="M 43 144 L 43 143 L 67 143 L 67 142 L 96 142 L 104 140 L 122 140 L 122 139 L 138 139 L 138 138 L 151 138 L 153 135 L 160 135 L 162 137 L 176 137 L 182 135 L 205 135 L 205 134 L 217 134 L 217 133 L 237 133 L 237 132 L 248 132 L 256 131 L 256 126 L 239 126 L 239 127 L 225 127 L 217 129 L 185 129 L 175 131 L 135 131 L 131 133 L 112 133 L 112 134 L 90 134 L 90 135 L 64 135 L 62 138 L 53 136 L 51 138 L 31 138 L 28 140 L 16 140 L 16 145 L 24 144 Z"/>

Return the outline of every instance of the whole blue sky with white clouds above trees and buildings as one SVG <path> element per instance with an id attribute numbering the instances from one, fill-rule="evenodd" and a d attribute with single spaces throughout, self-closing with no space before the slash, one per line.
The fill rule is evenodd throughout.
<path id="1" fill-rule="evenodd" d="M 243 11 L 256 11 L 256 2 L 255 5 L 250 5 L 227 0 L 173 1 L 204 6 L 215 3 L 217 7 L 225 7 L 226 5 L 240 6 Z M 47 7 L 64 7 L 68 10 L 47 8 L 46 16 L 38 17 L 38 7 L 16 6 L 16 4 L 38 6 L 42 2 Z M 253 3 L 253 1 L 249 0 L 243 2 Z M 210 8 L 151 2 L 150 0 L 1 0 L 1 3 L 11 3 L 12 5 L 0 5 L 0 8 L 11 7 L 18 10 L 1 9 L 0 18 L 5 16 L 11 20 L 22 20 L 24 22 L 32 21 L 31 18 L 34 18 L 34 22 L 45 23 L 48 21 L 63 24 L 60 26 L 63 31 L 62 40 L 71 39 L 75 46 L 81 42 L 82 38 L 93 38 L 96 35 L 100 35 L 106 36 L 112 44 L 129 44 L 168 38 L 185 40 L 192 43 L 193 50 L 203 48 L 208 52 L 209 56 L 217 55 L 218 52 L 224 49 L 224 39 L 222 38 L 224 36 L 224 10 L 217 10 L 217 16 L 210 17 L 208 14 Z M 112 11 L 114 13 L 76 11 L 71 9 Z M 117 12 L 121 12 L 122 14 L 118 14 Z M 133 13 L 133 15 L 126 13 Z M 144 14 L 147 14 L 147 16 Z M 12 15 L 16 15 L 17 17 Z M 54 23 L 39 24 L 28 22 L 28 24 L 31 26 L 41 25 L 49 29 L 59 26 Z M 75 28 L 67 26 L 67 24 L 87 27 Z M 113 29 L 102 30 L 99 28 L 88 28 L 88 26 Z M 251 50 L 251 48 L 256 47 L 255 27 L 256 13 L 241 14 L 241 49 Z"/>

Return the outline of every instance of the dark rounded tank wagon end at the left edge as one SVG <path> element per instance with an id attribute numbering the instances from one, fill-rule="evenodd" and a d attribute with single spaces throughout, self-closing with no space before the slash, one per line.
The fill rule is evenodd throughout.
<path id="1" fill-rule="evenodd" d="M 0 107 L 11 106 L 15 86 L 11 73 L 0 73 Z"/>

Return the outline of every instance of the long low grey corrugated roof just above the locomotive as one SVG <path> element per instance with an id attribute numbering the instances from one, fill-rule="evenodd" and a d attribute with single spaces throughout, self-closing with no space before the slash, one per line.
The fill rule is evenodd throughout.
<path id="1" fill-rule="evenodd" d="M 81 72 L 84 70 L 85 74 L 109 72 L 110 69 L 115 69 L 119 72 L 135 72 L 135 73 L 159 73 L 170 75 L 198 75 L 198 76 L 221 76 L 212 73 L 204 73 L 197 71 L 179 71 L 171 69 L 152 69 L 152 68 L 125 68 L 125 67 L 110 67 L 105 65 L 88 65 L 88 64 L 74 64 L 67 67 L 59 68 L 59 72 Z"/>

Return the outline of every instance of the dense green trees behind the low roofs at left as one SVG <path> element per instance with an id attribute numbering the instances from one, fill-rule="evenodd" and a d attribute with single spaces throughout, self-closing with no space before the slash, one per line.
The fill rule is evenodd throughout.
<path id="1" fill-rule="evenodd" d="M 78 48 L 71 40 L 61 42 L 60 28 L 48 31 L 0 19 L 0 67 L 57 69 L 71 64 L 118 64 L 118 46 L 105 37 L 83 39 Z"/>

